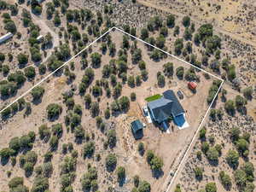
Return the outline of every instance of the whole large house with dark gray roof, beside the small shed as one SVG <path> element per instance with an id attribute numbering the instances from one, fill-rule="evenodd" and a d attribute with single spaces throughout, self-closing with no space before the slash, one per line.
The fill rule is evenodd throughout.
<path id="1" fill-rule="evenodd" d="M 182 127 L 186 122 L 185 111 L 172 90 L 166 90 L 162 97 L 148 102 L 147 106 L 154 122 L 163 125 L 164 128 L 166 128 L 166 122 L 170 118 L 179 127 Z"/>

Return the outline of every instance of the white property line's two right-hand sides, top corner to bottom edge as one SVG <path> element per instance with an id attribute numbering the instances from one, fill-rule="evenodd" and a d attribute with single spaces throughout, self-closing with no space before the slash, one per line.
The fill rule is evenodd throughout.
<path id="1" fill-rule="evenodd" d="M 130 36 L 130 37 L 132 37 L 132 38 L 137 39 L 138 41 L 143 42 L 144 44 L 148 44 L 148 42 L 145 42 L 145 41 L 143 41 L 143 39 L 137 38 L 137 37 L 135 37 L 135 36 L 129 34 L 128 32 L 125 32 L 125 31 L 123 31 L 123 30 L 121 30 L 121 29 L 119 29 L 119 28 L 117 28 L 117 27 L 113 27 L 113 28 L 116 29 L 116 30 L 118 30 L 119 32 L 125 33 L 126 35 L 128 35 L 128 36 Z M 166 53 L 167 55 L 172 56 L 173 58 L 177 59 L 178 61 L 183 61 L 183 59 L 180 59 L 180 58 L 178 58 L 177 56 L 172 55 L 172 54 L 166 52 L 166 51 L 163 50 L 163 49 L 160 49 L 160 48 L 158 48 L 158 47 L 156 47 L 156 46 L 154 46 L 154 45 L 152 45 L 152 44 L 148 44 L 148 45 L 151 46 L 151 47 L 153 47 L 154 49 L 158 49 L 158 50 L 160 50 L 161 52 Z M 198 69 L 198 70 L 200 70 L 200 71 L 202 71 L 202 72 L 204 72 L 204 73 L 207 73 L 207 74 L 211 75 L 212 77 L 214 77 L 214 78 L 216 78 L 216 79 L 221 80 L 221 84 L 219 85 L 218 90 L 217 90 L 217 92 L 216 92 L 216 95 L 213 97 L 213 100 L 212 100 L 212 102 L 211 102 L 209 108 L 207 109 L 207 113 L 205 114 L 205 116 L 204 116 L 203 119 L 201 120 L 200 125 L 198 126 L 197 130 L 195 131 L 195 135 L 194 135 L 194 137 L 192 138 L 191 142 L 189 143 L 189 147 L 185 150 L 185 154 L 183 155 L 183 159 L 180 161 L 180 163 L 179 163 L 179 165 L 178 165 L 178 167 L 177 167 L 177 170 L 174 172 L 174 175 L 173 175 L 173 177 L 172 177 L 171 182 L 167 185 L 166 192 L 168 192 L 168 191 L 171 189 L 172 183 L 174 182 L 175 178 L 177 177 L 177 173 L 180 172 L 180 170 L 181 170 L 181 168 L 182 168 L 182 166 L 183 166 L 183 162 L 186 160 L 186 158 L 187 158 L 187 156 L 188 156 L 188 154 L 189 154 L 189 150 L 190 150 L 190 148 L 192 147 L 193 143 L 195 142 L 195 138 L 196 138 L 198 132 L 199 132 L 200 129 L 201 129 L 201 125 L 204 123 L 204 120 L 207 118 L 207 114 L 209 113 L 210 109 L 212 108 L 212 104 L 213 104 L 213 102 L 215 101 L 216 97 L 218 96 L 219 90 L 222 88 L 222 85 L 224 84 L 224 79 L 220 79 L 218 76 L 216 76 L 216 75 L 214 75 L 214 74 L 212 74 L 212 73 L 208 73 L 206 70 L 204 70 L 204 69 L 202 69 L 202 68 L 200 68 L 200 67 L 196 67 L 196 66 L 192 65 L 191 63 L 189 63 L 189 62 L 187 62 L 187 61 L 183 61 L 183 62 L 186 63 L 186 64 L 188 64 L 189 66 L 195 67 L 196 69 Z M 171 173 L 171 172 L 172 172 L 172 169 L 170 170 L 170 172 L 169 172 L 169 174 L 167 175 L 167 178 L 166 178 L 166 179 L 168 179 L 168 177 L 170 176 L 170 173 Z"/>

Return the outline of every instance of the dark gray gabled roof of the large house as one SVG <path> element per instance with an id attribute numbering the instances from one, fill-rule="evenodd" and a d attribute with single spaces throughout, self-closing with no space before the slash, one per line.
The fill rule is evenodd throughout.
<path id="1" fill-rule="evenodd" d="M 176 117 L 184 113 L 183 107 L 172 90 L 166 90 L 160 99 L 148 102 L 148 108 L 154 113 L 154 120 L 159 123 L 171 116 Z"/>

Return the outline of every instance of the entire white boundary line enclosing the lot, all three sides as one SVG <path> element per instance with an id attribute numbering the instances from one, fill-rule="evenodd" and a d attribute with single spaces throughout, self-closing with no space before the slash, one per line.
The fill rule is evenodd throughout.
<path id="1" fill-rule="evenodd" d="M 61 65 L 61 67 L 58 67 L 57 69 L 55 69 L 54 72 L 49 73 L 46 77 L 44 77 L 44 79 L 41 79 L 37 84 L 34 84 L 34 85 L 32 86 L 32 88 L 30 88 L 29 90 L 26 90 L 26 92 L 23 93 L 23 94 L 22 94 L 21 96 L 19 96 L 18 98 L 16 98 L 15 101 L 11 102 L 9 105 L 7 105 L 5 108 L 3 108 L 3 109 L 0 111 L 0 113 L 2 113 L 6 108 L 9 108 L 9 107 L 10 107 L 12 104 L 14 104 L 15 102 L 17 102 L 21 97 L 26 96 L 26 94 L 28 94 L 32 89 L 34 89 L 35 87 L 37 87 L 39 84 L 42 84 L 42 83 L 43 83 L 46 79 L 48 79 L 51 75 L 53 75 L 54 73 L 56 73 L 56 72 L 57 72 L 59 69 L 61 69 L 62 67 L 66 66 L 68 62 L 72 61 L 75 57 L 77 57 L 78 55 L 80 55 L 81 53 L 83 53 L 83 51 L 84 51 L 85 49 L 88 49 L 92 44 L 95 44 L 99 39 L 103 38 L 106 34 L 108 34 L 108 32 L 112 32 L 113 29 L 115 29 L 115 30 L 117 30 L 117 31 L 119 31 L 119 32 L 122 32 L 122 33 L 124 33 L 124 34 L 130 36 L 131 38 L 135 38 L 135 39 L 137 39 L 138 41 L 143 42 L 144 44 L 148 44 L 148 42 L 143 41 L 143 39 L 137 38 L 137 37 L 135 37 L 135 36 L 129 34 L 128 32 L 125 32 L 125 31 L 119 29 L 118 27 L 113 26 L 113 27 L 110 28 L 107 32 L 103 33 L 101 37 L 96 38 L 96 40 L 94 40 L 92 43 L 90 43 L 89 45 L 87 45 L 84 49 L 80 50 L 78 54 L 73 55 L 73 57 L 71 57 L 68 61 L 64 62 L 64 63 Z M 176 55 L 172 55 L 172 54 L 166 52 L 166 51 L 163 50 L 163 49 L 160 49 L 160 48 L 158 48 L 158 47 L 156 47 L 156 46 L 154 46 L 154 45 L 152 45 L 152 44 L 148 44 L 148 45 L 151 46 L 151 47 L 153 47 L 154 49 L 160 50 L 161 52 L 165 53 L 166 55 L 172 56 L 173 58 L 177 59 L 178 61 L 183 61 L 183 59 L 180 59 L 180 58 L 177 57 Z M 198 69 L 198 70 L 200 70 L 200 71 L 202 71 L 202 72 L 204 72 L 204 73 L 207 73 L 207 74 L 211 75 L 212 77 L 214 77 L 214 78 L 216 78 L 216 79 L 218 79 L 218 80 L 221 80 L 222 82 L 221 82 L 221 84 L 219 85 L 218 90 L 217 90 L 217 93 L 216 93 L 216 95 L 213 97 L 213 100 L 212 100 L 212 102 L 211 102 L 209 108 L 207 109 L 207 113 L 205 114 L 205 116 L 204 116 L 203 119 L 201 120 L 201 124 L 198 126 L 197 130 L 195 131 L 195 135 L 194 135 L 194 137 L 192 138 L 191 142 L 189 143 L 189 147 L 185 150 L 185 154 L 183 155 L 182 160 L 180 161 L 179 165 L 177 166 L 177 170 L 175 171 L 175 173 L 174 173 L 174 175 L 173 175 L 173 177 L 172 177 L 171 182 L 168 183 L 166 192 L 168 192 L 168 191 L 171 189 L 172 183 L 174 182 L 175 178 L 177 177 L 178 172 L 180 172 L 180 170 L 181 170 L 181 168 L 182 168 L 182 166 L 183 166 L 183 162 L 186 160 L 186 158 L 187 158 L 187 156 L 188 156 L 188 154 L 189 154 L 189 150 L 190 150 L 190 148 L 192 147 L 193 143 L 195 142 L 195 138 L 196 138 L 198 132 L 199 132 L 200 129 L 201 129 L 201 125 L 203 125 L 204 120 L 207 118 L 207 115 L 208 115 L 210 109 L 212 108 L 212 104 L 213 104 L 213 102 L 215 101 L 216 97 L 218 96 L 219 90 L 222 88 L 222 86 L 223 86 L 223 84 L 224 84 L 224 79 L 220 79 L 218 76 L 216 76 L 216 75 L 214 75 L 214 74 L 212 74 L 212 73 L 208 73 L 206 70 L 204 70 L 204 69 L 202 69 L 202 68 L 200 68 L 200 67 L 196 67 L 196 66 L 192 65 L 192 64 L 189 63 L 188 61 L 183 61 L 183 62 L 186 63 L 186 64 L 188 64 L 188 65 L 191 66 L 191 67 L 195 67 L 196 69 Z M 170 170 L 170 172 L 171 172 L 171 170 Z M 169 174 L 167 175 L 167 178 L 170 176 L 170 172 L 169 172 Z"/>

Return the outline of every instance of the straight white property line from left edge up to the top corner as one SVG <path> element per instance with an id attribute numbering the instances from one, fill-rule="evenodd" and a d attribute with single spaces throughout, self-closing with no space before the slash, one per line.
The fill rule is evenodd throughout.
<path id="1" fill-rule="evenodd" d="M 111 32 L 113 30 L 113 27 L 110 28 L 108 30 L 108 32 Z M 58 70 L 60 70 L 62 67 L 66 66 L 68 62 L 72 61 L 75 57 L 77 57 L 78 55 L 80 55 L 85 49 L 88 49 L 92 44 L 95 44 L 99 39 L 103 38 L 106 34 L 108 34 L 108 32 L 105 32 L 102 34 L 101 37 L 96 38 L 95 41 L 93 41 L 92 43 L 90 43 L 89 45 L 87 45 L 84 49 L 80 50 L 79 53 L 77 55 L 73 55 L 73 57 L 71 57 L 68 61 L 64 62 L 61 67 L 58 67 L 57 69 L 55 69 L 54 72 L 49 73 L 46 77 L 44 77 L 44 79 L 41 79 L 37 84 L 34 84 L 32 86 L 32 88 L 30 88 L 29 90 L 26 90 L 25 93 L 23 93 L 21 96 L 19 96 L 18 98 L 15 99 L 14 102 L 11 102 L 9 105 L 7 105 L 5 108 L 3 108 L 0 113 L 2 113 L 6 108 L 9 108 L 12 104 L 14 104 L 15 102 L 18 102 L 18 100 L 23 97 L 26 96 L 26 94 L 28 94 L 32 89 L 34 89 L 35 87 L 37 87 L 39 84 L 42 84 L 46 79 L 48 79 L 51 75 L 53 75 L 54 73 L 56 73 Z"/>

